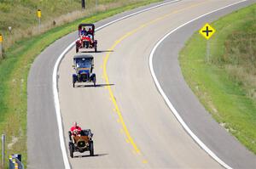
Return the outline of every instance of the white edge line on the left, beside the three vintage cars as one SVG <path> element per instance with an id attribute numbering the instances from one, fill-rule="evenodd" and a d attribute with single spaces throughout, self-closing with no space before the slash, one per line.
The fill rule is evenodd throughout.
<path id="1" fill-rule="evenodd" d="M 161 6 L 164 6 L 166 4 L 169 4 L 169 3 L 176 3 L 178 1 L 181 1 L 181 0 L 173 0 L 173 1 L 170 1 L 170 2 L 166 2 L 166 3 L 161 3 L 161 4 L 158 4 L 158 5 L 155 5 L 153 7 L 150 7 L 150 8 L 145 8 L 143 10 L 140 10 L 138 12 L 135 12 L 135 13 L 132 13 L 132 14 L 128 14 L 124 17 L 121 17 L 117 20 L 113 20 L 111 22 L 108 22 L 107 24 L 105 25 L 102 25 L 98 28 L 96 28 L 96 31 L 99 31 L 101 30 L 102 28 L 108 26 L 108 25 L 111 25 L 115 22 L 118 22 L 119 20 L 124 20 L 126 18 L 129 18 L 133 15 L 136 15 L 136 14 L 141 14 L 143 12 L 146 12 L 148 10 L 151 10 L 153 8 L 159 8 Z M 58 95 L 58 86 L 57 86 L 57 81 L 58 81 L 58 76 L 57 76 L 57 72 L 58 72 L 58 68 L 59 68 L 59 65 L 61 64 L 61 59 L 63 59 L 63 57 L 65 56 L 65 54 L 67 54 L 67 52 L 73 48 L 73 46 L 75 45 L 75 41 L 72 42 L 62 53 L 61 55 L 58 57 L 58 59 L 56 60 L 55 62 L 55 66 L 54 66 L 54 70 L 53 70 L 53 75 L 52 75 L 52 80 L 53 80 L 53 95 L 54 95 L 54 102 L 55 102 L 55 113 L 56 113 L 56 118 L 57 118 L 57 123 L 58 123 L 58 129 L 59 129 L 59 139 L 60 139 L 60 144 L 61 144 L 61 153 L 62 153 L 62 158 L 63 158 L 63 161 L 64 161 L 64 166 L 66 169 L 70 169 L 71 166 L 69 164 L 69 161 L 68 161 L 68 157 L 67 157 L 67 149 L 66 149 L 66 146 L 65 146 L 65 140 L 64 140 L 64 133 L 63 133 L 63 126 L 62 126 L 62 119 L 61 119 L 61 108 L 60 108 L 60 100 L 59 100 L 59 95 Z"/>

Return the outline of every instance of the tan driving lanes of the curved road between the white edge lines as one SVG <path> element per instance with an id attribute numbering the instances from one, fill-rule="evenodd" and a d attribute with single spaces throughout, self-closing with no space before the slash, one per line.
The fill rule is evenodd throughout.
<path id="1" fill-rule="evenodd" d="M 78 121 L 81 127 L 90 128 L 95 133 L 96 152 L 95 157 L 76 154 L 76 158 L 69 159 L 73 168 L 221 167 L 195 144 L 166 106 L 150 74 L 148 56 L 155 43 L 168 31 L 201 14 L 235 2 L 171 3 L 98 31 L 96 39 L 100 53 L 93 54 L 97 87 L 91 87 L 91 84 L 72 87 L 74 48 L 67 53 L 58 73 L 64 131 L 68 131 L 73 121 Z M 179 40 L 176 37 L 172 43 L 179 43 Z M 164 53 L 171 54 L 168 50 L 170 47 L 165 48 Z M 166 63 L 166 58 L 155 56 L 155 59 L 158 60 L 156 67 Z M 172 79 L 175 75 L 171 75 L 166 71 L 164 76 L 160 76 Z M 200 118 L 198 122 L 201 122 Z M 212 127 L 205 127 L 204 134 L 207 130 L 212 132 Z M 216 130 L 224 131 L 220 127 Z M 67 132 L 65 136 L 67 142 Z M 225 134 L 225 137 L 229 135 Z M 214 138 L 215 135 L 212 135 L 209 139 Z M 229 147 L 226 142 L 219 144 Z M 236 163 L 229 162 L 230 166 L 232 162 Z"/>

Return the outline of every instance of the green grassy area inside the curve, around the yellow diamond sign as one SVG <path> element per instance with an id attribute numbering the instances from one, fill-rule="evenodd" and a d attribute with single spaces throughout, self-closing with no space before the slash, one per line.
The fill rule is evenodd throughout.
<path id="1" fill-rule="evenodd" d="M 222 126 L 256 154 L 256 4 L 212 23 L 215 35 L 198 32 L 180 53 L 183 76 Z"/>

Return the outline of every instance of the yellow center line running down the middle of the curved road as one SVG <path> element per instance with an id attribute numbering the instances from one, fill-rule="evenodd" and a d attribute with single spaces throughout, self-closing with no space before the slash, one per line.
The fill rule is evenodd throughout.
<path id="1" fill-rule="evenodd" d="M 203 3 L 207 3 L 207 2 L 203 2 Z M 188 8 L 194 8 L 195 6 L 199 6 L 199 5 L 201 5 L 201 4 L 202 4 L 202 3 L 195 3 L 195 4 L 193 4 L 193 5 L 190 5 L 189 7 L 181 8 L 181 9 L 178 9 L 178 10 L 174 10 L 174 11 L 172 11 L 172 13 L 170 13 L 170 14 L 165 14 L 165 15 L 163 15 L 163 16 L 160 16 L 159 18 L 156 18 L 156 19 L 154 19 L 154 20 L 148 21 L 148 22 L 146 22 L 145 24 L 140 25 L 140 26 L 137 27 L 136 29 L 125 33 L 125 35 L 124 35 L 123 37 L 120 37 L 117 41 L 115 41 L 115 42 L 113 43 L 112 47 L 109 48 L 108 50 L 109 50 L 109 51 L 113 51 L 113 49 L 114 49 L 120 42 L 122 42 L 123 40 L 125 40 L 126 37 L 130 37 L 131 35 L 133 35 L 133 34 L 136 33 L 137 31 L 140 31 L 141 29 L 147 27 L 148 25 L 153 25 L 153 24 L 154 24 L 155 22 L 157 22 L 157 21 L 166 19 L 166 17 L 170 16 L 171 14 L 177 14 L 178 12 L 182 12 L 183 10 L 186 10 L 186 9 L 188 9 Z M 126 125 L 125 125 L 125 121 L 124 121 L 123 115 L 121 114 L 121 111 L 119 110 L 119 106 L 118 106 L 118 104 L 117 104 L 117 102 L 116 102 L 116 99 L 115 99 L 114 96 L 113 96 L 112 88 L 111 88 L 111 86 L 109 85 L 110 83 L 109 83 L 108 74 L 107 74 L 107 63 L 108 63 L 108 58 L 109 58 L 109 56 L 110 56 L 110 52 L 108 52 L 108 53 L 106 54 L 106 56 L 104 57 L 104 62 L 103 62 L 103 76 L 104 76 L 104 79 L 105 79 L 106 84 L 107 84 L 108 93 L 109 93 L 110 99 L 111 99 L 111 101 L 112 101 L 112 103 L 113 103 L 114 110 L 116 111 L 117 115 L 119 116 L 118 121 L 119 121 L 119 123 L 120 123 L 120 124 L 122 125 L 122 127 L 123 127 L 123 128 L 122 128 L 122 132 L 125 132 L 125 135 L 126 135 L 126 138 L 127 138 L 127 139 L 126 139 L 126 142 L 127 142 L 127 143 L 130 143 L 130 144 L 132 145 L 132 147 L 133 147 L 133 149 L 134 149 L 134 151 L 135 151 L 135 153 L 136 153 L 137 155 L 141 155 L 140 149 L 138 149 L 137 144 L 135 144 L 133 138 L 131 138 L 131 134 L 130 134 L 130 132 L 128 131 L 128 128 L 126 127 Z M 148 161 L 143 160 L 143 163 L 146 164 L 146 163 L 148 163 Z"/>

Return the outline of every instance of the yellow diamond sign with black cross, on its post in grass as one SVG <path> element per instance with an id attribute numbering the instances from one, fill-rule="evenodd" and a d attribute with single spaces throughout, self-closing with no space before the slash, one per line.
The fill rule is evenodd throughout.
<path id="1" fill-rule="evenodd" d="M 209 62 L 210 58 L 210 45 L 209 45 L 209 39 L 212 37 L 212 35 L 215 33 L 214 28 L 209 25 L 208 23 L 204 25 L 201 30 L 199 31 L 200 34 L 207 39 L 207 63 Z"/>

